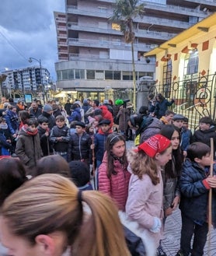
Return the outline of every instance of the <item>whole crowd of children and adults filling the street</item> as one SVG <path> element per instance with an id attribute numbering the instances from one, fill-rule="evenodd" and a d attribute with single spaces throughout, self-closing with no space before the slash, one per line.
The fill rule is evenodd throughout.
<path id="1" fill-rule="evenodd" d="M 148 100 L 132 114 L 121 99 L 2 97 L 1 255 L 165 256 L 165 220 L 178 207 L 176 256 L 204 254 L 210 209 L 216 227 L 216 124 L 204 116 L 191 132 L 169 110 L 175 99 Z"/>

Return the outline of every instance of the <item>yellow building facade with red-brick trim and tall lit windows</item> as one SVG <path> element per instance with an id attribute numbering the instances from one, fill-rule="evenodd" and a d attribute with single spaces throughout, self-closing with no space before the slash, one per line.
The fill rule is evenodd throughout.
<path id="1" fill-rule="evenodd" d="M 215 119 L 216 13 L 171 40 L 148 51 L 156 56 L 152 93 L 176 98 L 173 110 L 189 118 L 192 129 L 200 117 Z"/>

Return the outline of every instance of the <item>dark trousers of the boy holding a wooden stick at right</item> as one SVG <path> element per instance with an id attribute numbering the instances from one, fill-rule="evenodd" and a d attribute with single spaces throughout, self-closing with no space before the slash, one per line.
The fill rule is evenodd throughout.
<path id="1" fill-rule="evenodd" d="M 204 223 L 202 226 L 193 222 L 192 219 L 186 217 L 182 212 L 182 230 L 180 247 L 184 256 L 202 256 L 204 254 L 204 246 L 207 240 L 208 225 Z M 194 236 L 193 236 L 194 234 Z M 193 236 L 193 247 L 190 248 Z"/>

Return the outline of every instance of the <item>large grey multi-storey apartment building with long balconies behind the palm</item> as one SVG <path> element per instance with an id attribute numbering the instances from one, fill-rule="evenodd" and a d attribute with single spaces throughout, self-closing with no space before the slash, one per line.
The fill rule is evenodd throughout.
<path id="1" fill-rule="evenodd" d="M 166 40 L 216 11 L 216 0 L 152 0 L 145 16 L 134 20 L 136 79 L 155 79 L 155 58 L 145 58 Z M 59 61 L 57 88 L 72 99 L 131 98 L 133 77 L 131 44 L 120 26 L 110 20 L 112 0 L 66 0 L 66 12 L 54 12 Z"/>

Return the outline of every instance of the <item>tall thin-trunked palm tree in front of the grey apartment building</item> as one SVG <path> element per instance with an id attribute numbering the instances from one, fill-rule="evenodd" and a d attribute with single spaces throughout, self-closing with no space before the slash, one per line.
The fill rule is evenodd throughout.
<path id="1" fill-rule="evenodd" d="M 120 25 L 127 44 L 131 43 L 132 66 L 133 66 L 133 103 L 136 110 L 136 73 L 134 63 L 134 19 L 144 16 L 144 4 L 140 0 L 117 0 L 113 8 L 113 16 L 110 20 Z"/>

